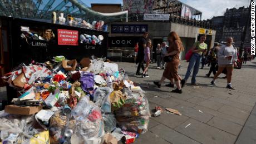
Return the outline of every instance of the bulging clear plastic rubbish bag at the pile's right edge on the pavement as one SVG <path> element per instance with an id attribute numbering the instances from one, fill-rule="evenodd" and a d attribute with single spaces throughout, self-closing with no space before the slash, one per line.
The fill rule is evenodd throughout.
<path id="1" fill-rule="evenodd" d="M 122 130 L 136 133 L 145 133 L 149 124 L 150 111 L 149 102 L 143 91 L 129 92 L 124 106 L 116 110 L 117 125 Z"/>

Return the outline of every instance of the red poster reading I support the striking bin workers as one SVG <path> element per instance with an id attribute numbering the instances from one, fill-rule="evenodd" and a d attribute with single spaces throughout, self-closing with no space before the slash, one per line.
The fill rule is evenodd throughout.
<path id="1" fill-rule="evenodd" d="M 78 31 L 58 29 L 58 45 L 78 46 Z"/>

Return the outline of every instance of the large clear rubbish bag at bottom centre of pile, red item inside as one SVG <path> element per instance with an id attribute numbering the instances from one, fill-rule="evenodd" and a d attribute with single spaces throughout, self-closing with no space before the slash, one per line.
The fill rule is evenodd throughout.
<path id="1" fill-rule="evenodd" d="M 62 111 L 55 112 L 50 121 L 51 143 L 79 140 L 79 143 L 100 143 L 104 136 L 104 121 L 100 108 L 86 97 L 82 97 L 73 108 L 71 118 L 63 115 Z M 68 120 L 68 126 L 67 126 Z M 72 136 L 65 137 L 65 130 L 72 130 Z M 75 140 L 74 140 L 75 139 Z"/>

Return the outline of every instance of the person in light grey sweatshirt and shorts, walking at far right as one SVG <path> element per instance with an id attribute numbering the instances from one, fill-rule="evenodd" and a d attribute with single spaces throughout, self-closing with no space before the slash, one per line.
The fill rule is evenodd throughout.
<path id="1" fill-rule="evenodd" d="M 237 66 L 237 49 L 233 47 L 233 38 L 227 38 L 227 44 L 220 48 L 218 52 L 218 72 L 214 75 L 213 81 L 211 81 L 211 85 L 216 85 L 215 80 L 223 71 L 224 68 L 227 68 L 227 88 L 235 90 L 231 85 L 232 72 L 233 68 Z"/>

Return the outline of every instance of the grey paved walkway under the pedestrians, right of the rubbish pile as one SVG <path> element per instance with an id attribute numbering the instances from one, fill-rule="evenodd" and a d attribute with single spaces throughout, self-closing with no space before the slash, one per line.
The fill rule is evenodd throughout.
<path id="1" fill-rule="evenodd" d="M 227 90 L 227 80 L 223 78 L 211 86 L 212 78 L 205 77 L 209 67 L 205 67 L 196 78 L 199 86 L 191 86 L 190 77 L 182 94 L 171 93 L 174 88 L 165 87 L 168 80 L 161 88 L 153 84 L 163 74 L 155 63 L 150 64 L 150 77 L 145 78 L 135 76 L 135 63 L 114 63 L 125 68 L 130 80 L 146 91 L 151 112 L 155 106 L 161 106 L 183 114 L 177 116 L 164 111 L 159 117 L 151 117 L 149 131 L 140 135 L 135 143 L 256 143 L 256 62 L 234 69 L 232 85 L 237 90 Z M 188 62 L 181 63 L 179 74 L 183 77 L 187 66 Z"/>

